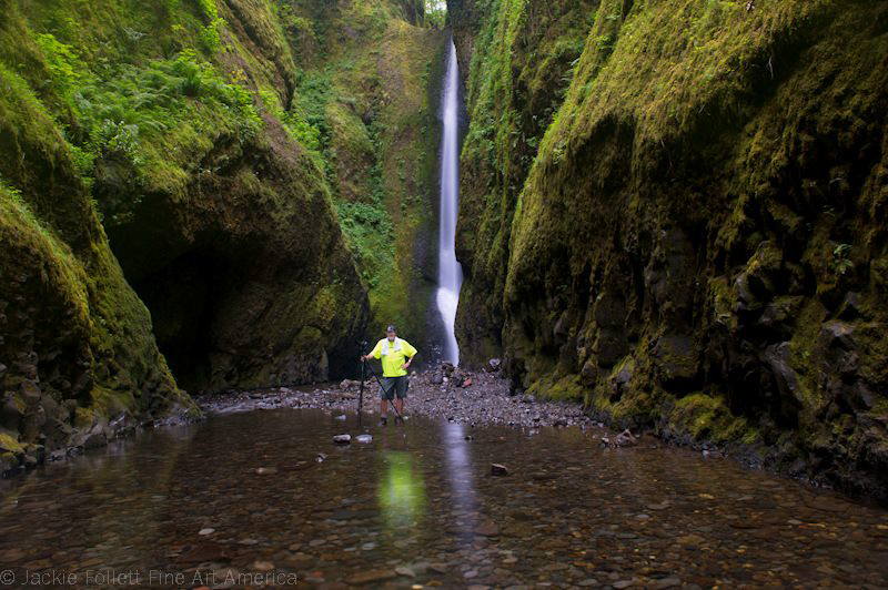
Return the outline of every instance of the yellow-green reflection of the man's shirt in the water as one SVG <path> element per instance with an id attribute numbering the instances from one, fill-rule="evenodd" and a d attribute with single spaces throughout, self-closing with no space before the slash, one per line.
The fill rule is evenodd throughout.
<path id="1" fill-rule="evenodd" d="M 386 450 L 382 461 L 385 469 L 377 497 L 386 528 L 418 527 L 425 508 L 425 482 L 413 456 L 403 450 Z"/>

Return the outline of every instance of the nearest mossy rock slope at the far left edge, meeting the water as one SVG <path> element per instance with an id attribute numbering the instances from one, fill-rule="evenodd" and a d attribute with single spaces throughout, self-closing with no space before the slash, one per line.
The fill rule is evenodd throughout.
<path id="1" fill-rule="evenodd" d="M 0 39 L 24 37 L 0 3 Z M 75 172 L 28 82 L 0 62 L 0 472 L 122 427 L 196 415 L 151 334 Z M 26 45 L 16 61 L 46 75 Z"/>

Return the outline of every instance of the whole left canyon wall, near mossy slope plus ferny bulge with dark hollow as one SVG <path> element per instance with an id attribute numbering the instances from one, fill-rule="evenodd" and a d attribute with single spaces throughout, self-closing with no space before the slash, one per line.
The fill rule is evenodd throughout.
<path id="1" fill-rule="evenodd" d="M 190 389 L 354 364 L 366 288 L 295 88 L 269 2 L 0 1 L 2 470 L 196 415 L 161 352 Z"/>

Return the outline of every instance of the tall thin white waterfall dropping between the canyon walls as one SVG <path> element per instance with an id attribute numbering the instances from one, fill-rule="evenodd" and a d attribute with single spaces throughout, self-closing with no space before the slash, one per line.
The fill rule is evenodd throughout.
<path id="1" fill-rule="evenodd" d="M 454 324 L 463 268 L 456 262 L 456 212 L 460 202 L 460 68 L 456 63 L 456 45 L 451 41 L 447 55 L 447 73 L 444 77 L 441 98 L 441 118 L 444 133 L 441 140 L 441 223 L 438 226 L 437 308 L 444 321 L 446 340 L 444 360 L 454 365 L 460 362 Z"/>

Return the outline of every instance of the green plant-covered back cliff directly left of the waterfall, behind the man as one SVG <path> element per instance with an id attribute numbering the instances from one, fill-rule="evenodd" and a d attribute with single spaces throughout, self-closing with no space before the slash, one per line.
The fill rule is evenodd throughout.
<path id="1" fill-rule="evenodd" d="M 346 242 L 370 297 L 366 336 L 387 324 L 434 355 L 438 85 L 446 41 L 422 2 L 286 2 L 301 63 L 294 106 L 321 130 L 320 152 Z M 307 32 L 306 32 L 307 31 Z"/>

